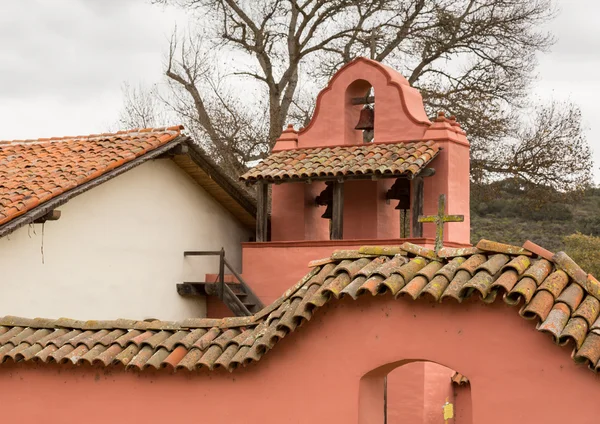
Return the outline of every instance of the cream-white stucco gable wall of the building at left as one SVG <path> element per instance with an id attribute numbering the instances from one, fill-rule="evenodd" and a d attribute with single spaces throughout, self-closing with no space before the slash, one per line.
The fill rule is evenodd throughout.
<path id="1" fill-rule="evenodd" d="M 146 162 L 58 208 L 58 221 L 0 238 L 0 316 L 177 320 L 203 317 L 204 298 L 175 284 L 204 281 L 225 248 L 240 270 L 249 233 L 168 159 Z M 43 253 L 42 253 L 43 251 Z"/>

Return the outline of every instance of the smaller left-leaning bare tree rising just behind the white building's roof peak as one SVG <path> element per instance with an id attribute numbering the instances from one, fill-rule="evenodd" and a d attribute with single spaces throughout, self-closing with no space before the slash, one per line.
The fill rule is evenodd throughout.
<path id="1" fill-rule="evenodd" d="M 194 138 L 231 175 L 268 152 L 269 119 L 260 96 L 244 99 L 214 66 L 209 44 L 197 37 L 171 40 L 166 75 L 171 96 L 163 102 L 185 121 Z M 245 90 L 248 94 L 249 91 Z M 190 102 L 190 99 L 192 100 Z"/>

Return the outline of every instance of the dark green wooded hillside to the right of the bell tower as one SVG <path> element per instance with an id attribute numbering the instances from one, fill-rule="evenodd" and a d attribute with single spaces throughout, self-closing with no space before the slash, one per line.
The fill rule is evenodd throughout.
<path id="1" fill-rule="evenodd" d="M 488 187 L 487 192 L 493 194 L 471 200 L 472 243 L 482 238 L 515 245 L 531 240 L 556 252 L 565 248 L 563 239 L 576 232 L 600 236 L 600 188 L 587 189 L 569 203 L 550 201 L 541 206 L 532 201 L 529 190 L 506 183 Z"/>

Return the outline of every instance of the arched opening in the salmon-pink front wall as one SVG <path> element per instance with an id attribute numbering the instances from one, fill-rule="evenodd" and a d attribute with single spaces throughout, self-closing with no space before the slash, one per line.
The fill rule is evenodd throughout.
<path id="1" fill-rule="evenodd" d="M 472 424 L 471 384 L 423 360 L 387 364 L 360 380 L 359 424 Z"/>

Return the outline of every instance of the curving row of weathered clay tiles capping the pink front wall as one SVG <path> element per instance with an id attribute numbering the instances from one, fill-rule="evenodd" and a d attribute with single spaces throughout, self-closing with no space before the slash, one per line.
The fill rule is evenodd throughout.
<path id="1" fill-rule="evenodd" d="M 535 245 L 527 244 L 532 250 Z M 443 302 L 502 298 L 576 362 L 600 369 L 600 283 L 564 253 L 548 260 L 531 250 L 482 241 L 445 258 L 411 254 L 414 245 L 370 246 L 319 261 L 277 301 L 249 317 L 167 321 L 0 318 L 0 363 L 35 361 L 189 371 L 233 371 L 259 361 L 279 340 L 341 297 L 386 295 Z M 545 251 L 547 252 L 547 251 Z M 549 253 L 549 252 L 548 252 Z M 315 261 L 315 263 L 317 263 Z M 399 308 L 410 307 L 399 303 Z M 455 376 L 464 384 L 464 376 Z"/>

